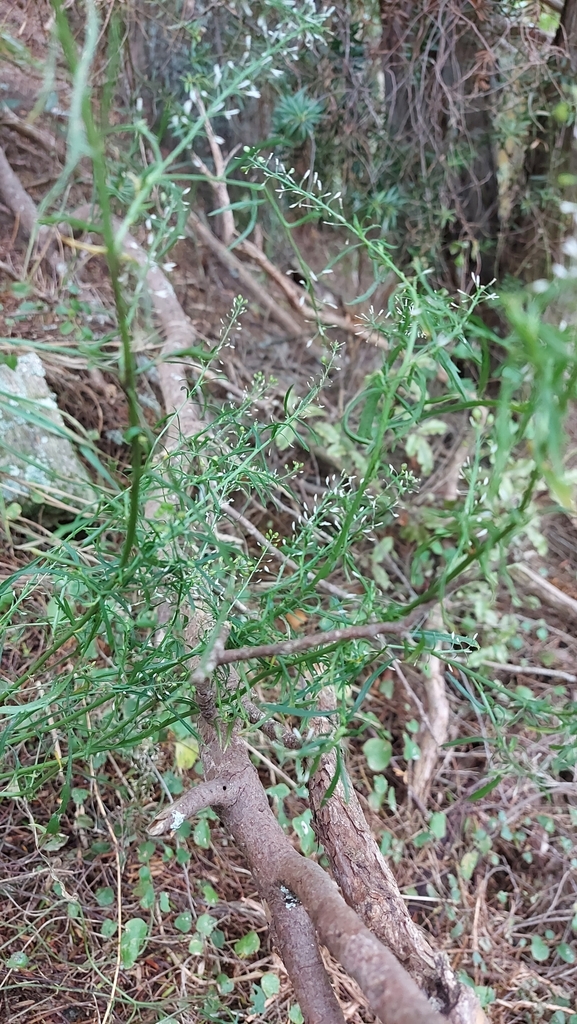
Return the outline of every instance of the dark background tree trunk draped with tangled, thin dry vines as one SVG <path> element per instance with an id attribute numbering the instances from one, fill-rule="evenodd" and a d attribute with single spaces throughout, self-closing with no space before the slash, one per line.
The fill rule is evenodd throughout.
<path id="1" fill-rule="evenodd" d="M 380 0 L 387 130 L 395 145 L 412 146 L 408 167 L 420 165 L 425 179 L 444 176 L 451 223 L 443 256 L 460 287 L 471 272 L 486 282 L 494 276 L 499 236 L 487 42 L 496 5 L 488 6 L 493 10 L 483 0 L 420 8 Z"/>

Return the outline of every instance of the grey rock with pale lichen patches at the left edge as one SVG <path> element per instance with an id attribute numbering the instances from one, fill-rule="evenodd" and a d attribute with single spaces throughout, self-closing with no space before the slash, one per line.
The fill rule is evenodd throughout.
<path id="1" fill-rule="evenodd" d="M 25 514 L 40 505 L 81 510 L 96 494 L 35 352 L 0 365 L 0 492 Z"/>

